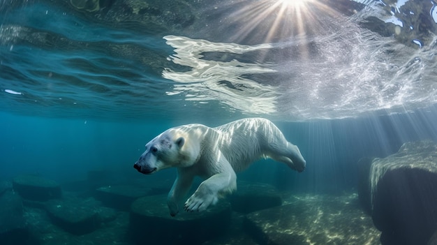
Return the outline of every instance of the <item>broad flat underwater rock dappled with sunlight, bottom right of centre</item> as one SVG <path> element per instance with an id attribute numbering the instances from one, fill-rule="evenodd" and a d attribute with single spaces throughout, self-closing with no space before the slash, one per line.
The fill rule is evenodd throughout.
<path id="1" fill-rule="evenodd" d="M 246 215 L 244 229 L 259 244 L 379 244 L 379 232 L 357 195 L 306 195 Z"/>

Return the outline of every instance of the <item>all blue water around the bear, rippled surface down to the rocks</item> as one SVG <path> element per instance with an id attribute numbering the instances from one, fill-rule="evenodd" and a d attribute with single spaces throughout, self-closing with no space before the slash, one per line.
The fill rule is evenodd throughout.
<path id="1" fill-rule="evenodd" d="M 167 128 L 265 117 L 307 168 L 239 179 L 341 193 L 360 158 L 437 140 L 435 1 L 98 2 L 0 1 L 0 180 L 140 178 Z"/>

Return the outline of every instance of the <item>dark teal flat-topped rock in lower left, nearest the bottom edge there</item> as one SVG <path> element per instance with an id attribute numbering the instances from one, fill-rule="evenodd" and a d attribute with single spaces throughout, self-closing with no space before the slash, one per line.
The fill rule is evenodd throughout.
<path id="1" fill-rule="evenodd" d="M 101 218 L 96 201 L 68 198 L 50 200 L 45 204 L 53 223 L 74 235 L 83 235 L 98 228 Z"/>

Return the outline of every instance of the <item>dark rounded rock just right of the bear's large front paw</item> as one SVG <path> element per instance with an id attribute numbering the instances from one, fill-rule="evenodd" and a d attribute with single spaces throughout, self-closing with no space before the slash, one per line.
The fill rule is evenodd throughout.
<path id="1" fill-rule="evenodd" d="M 282 205 L 281 195 L 272 185 L 239 181 L 237 186 L 237 191 L 230 196 L 230 204 L 234 211 L 249 214 Z"/>

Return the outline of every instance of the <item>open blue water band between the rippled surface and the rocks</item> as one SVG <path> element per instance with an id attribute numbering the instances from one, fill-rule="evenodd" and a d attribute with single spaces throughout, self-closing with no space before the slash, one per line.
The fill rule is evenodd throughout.
<path id="1" fill-rule="evenodd" d="M 240 176 L 299 192 L 353 190 L 360 158 L 393 154 L 403 142 L 437 140 L 436 110 L 429 107 L 410 114 L 362 119 L 276 122 L 286 138 L 299 146 L 308 168 L 298 174 L 280 163 L 259 161 Z M 132 165 L 145 144 L 184 121 L 59 119 L 5 112 L 1 119 L 1 179 L 31 173 L 61 182 L 86 179 L 89 170 L 120 172 L 120 179 L 141 177 Z M 195 121 L 220 125 L 207 119 Z M 172 177 L 175 172 L 164 170 L 159 175 Z"/>

